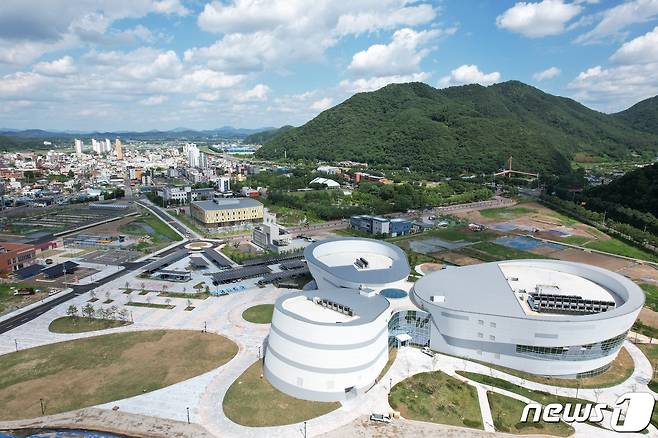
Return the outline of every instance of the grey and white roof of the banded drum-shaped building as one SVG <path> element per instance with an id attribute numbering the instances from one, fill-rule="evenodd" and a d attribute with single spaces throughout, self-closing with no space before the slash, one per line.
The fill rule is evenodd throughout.
<path id="1" fill-rule="evenodd" d="M 343 307 L 349 307 L 356 318 L 349 317 L 349 315 L 344 315 L 347 318 L 341 317 L 339 316 L 339 312 L 326 309 L 320 304 L 315 304 L 313 302 L 314 298 L 319 300 L 325 299 Z M 294 301 L 289 303 L 289 300 Z M 341 325 L 361 325 L 377 319 L 389 308 L 390 303 L 379 294 L 367 297 L 361 295 L 356 289 L 323 288 L 282 295 L 276 300 L 274 306 L 279 312 L 292 318 L 314 324 L 335 325 L 340 323 Z"/>

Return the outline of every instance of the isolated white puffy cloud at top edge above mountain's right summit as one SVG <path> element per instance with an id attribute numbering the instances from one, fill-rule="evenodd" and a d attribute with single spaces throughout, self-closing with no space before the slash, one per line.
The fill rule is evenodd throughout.
<path id="1" fill-rule="evenodd" d="M 496 18 L 496 25 L 529 38 L 558 35 L 582 10 L 581 6 L 563 0 L 518 2 Z"/>

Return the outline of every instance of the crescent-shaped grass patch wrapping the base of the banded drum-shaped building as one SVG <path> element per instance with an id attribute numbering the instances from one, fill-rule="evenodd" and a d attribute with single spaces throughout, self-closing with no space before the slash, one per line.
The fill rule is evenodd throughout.
<path id="1" fill-rule="evenodd" d="M 251 427 L 300 423 L 339 407 L 338 402 L 312 402 L 282 393 L 263 377 L 260 360 L 231 384 L 222 402 L 224 413 L 231 421 Z"/>

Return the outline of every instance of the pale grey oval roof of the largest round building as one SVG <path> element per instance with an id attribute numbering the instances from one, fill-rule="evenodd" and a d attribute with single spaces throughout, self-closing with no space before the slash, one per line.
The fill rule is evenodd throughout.
<path id="1" fill-rule="evenodd" d="M 584 315 L 528 313 L 511 286 L 516 281 L 508 281 L 506 276 L 511 275 L 506 273 L 518 273 L 519 281 L 526 287 L 550 278 L 558 281 L 565 291 L 584 287 L 585 294 L 605 293 L 618 305 L 607 312 Z M 412 293 L 427 308 L 545 321 L 603 320 L 644 305 L 644 293 L 629 279 L 596 266 L 560 260 L 502 261 L 435 271 L 419 279 Z"/>

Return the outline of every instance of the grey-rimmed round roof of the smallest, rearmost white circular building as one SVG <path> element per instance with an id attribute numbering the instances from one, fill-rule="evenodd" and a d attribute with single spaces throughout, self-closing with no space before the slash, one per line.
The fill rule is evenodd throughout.
<path id="1" fill-rule="evenodd" d="M 362 238 L 336 238 L 312 243 L 304 249 L 307 263 L 314 264 L 334 276 L 351 283 L 386 284 L 409 276 L 409 263 L 404 251 L 388 242 Z M 368 262 L 357 267 L 357 259 Z"/>

